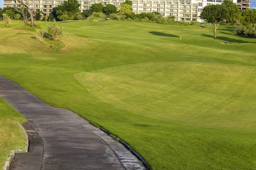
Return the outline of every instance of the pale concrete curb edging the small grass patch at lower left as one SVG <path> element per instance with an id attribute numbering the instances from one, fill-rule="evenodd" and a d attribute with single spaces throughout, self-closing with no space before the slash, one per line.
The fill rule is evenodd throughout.
<path id="1" fill-rule="evenodd" d="M 12 150 L 11 153 L 8 155 L 8 158 L 6 160 L 6 163 L 3 167 L 3 170 L 9 170 L 9 167 L 12 163 L 12 160 L 14 159 L 16 153 L 26 153 L 29 151 L 29 136 L 26 133 L 26 130 L 24 129 L 24 127 L 22 125 L 20 125 L 20 122 L 17 122 L 18 125 L 22 128 L 25 136 L 26 136 L 26 147 L 24 149 L 17 149 L 17 150 Z"/>

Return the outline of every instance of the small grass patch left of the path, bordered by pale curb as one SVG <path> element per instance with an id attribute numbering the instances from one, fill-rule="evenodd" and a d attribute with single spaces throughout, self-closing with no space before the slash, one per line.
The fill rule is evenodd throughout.
<path id="1" fill-rule="evenodd" d="M 12 150 L 24 149 L 26 137 L 17 124 L 26 122 L 26 119 L 11 105 L 0 98 L 0 169 L 3 169 L 7 156 Z"/>

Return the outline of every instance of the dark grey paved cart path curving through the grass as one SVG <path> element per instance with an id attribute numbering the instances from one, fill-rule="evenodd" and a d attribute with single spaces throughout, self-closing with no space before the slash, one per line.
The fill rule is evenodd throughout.
<path id="1" fill-rule="evenodd" d="M 0 97 L 28 120 L 25 128 L 32 129 L 27 130 L 28 134 L 31 133 L 29 140 L 33 138 L 33 133 L 35 138 L 41 138 L 32 143 L 30 141 L 31 144 L 36 144 L 31 150 L 36 153 L 20 153 L 23 156 L 16 156 L 11 169 L 126 169 L 106 142 L 90 130 L 81 127 L 81 125 L 89 125 L 89 122 L 72 111 L 49 106 L 15 82 L 2 76 L 0 76 Z"/>

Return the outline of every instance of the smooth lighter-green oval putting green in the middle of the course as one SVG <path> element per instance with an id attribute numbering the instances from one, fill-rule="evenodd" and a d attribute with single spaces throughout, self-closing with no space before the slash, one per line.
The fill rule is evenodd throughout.
<path id="1" fill-rule="evenodd" d="M 152 62 L 76 74 L 116 108 L 161 121 L 256 130 L 256 68 L 200 62 Z"/>

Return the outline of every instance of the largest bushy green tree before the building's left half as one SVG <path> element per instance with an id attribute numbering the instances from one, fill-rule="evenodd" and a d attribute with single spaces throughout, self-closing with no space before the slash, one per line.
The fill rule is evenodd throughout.
<path id="1" fill-rule="evenodd" d="M 67 0 L 55 8 L 54 14 L 57 15 L 58 20 L 67 20 L 68 17 L 72 19 L 79 13 L 80 6 L 77 0 Z"/>

